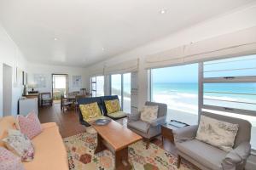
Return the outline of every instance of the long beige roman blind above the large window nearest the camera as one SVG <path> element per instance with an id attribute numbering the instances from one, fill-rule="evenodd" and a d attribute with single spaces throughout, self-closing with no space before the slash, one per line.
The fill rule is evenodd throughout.
<path id="1" fill-rule="evenodd" d="M 256 27 L 149 55 L 145 67 L 160 68 L 246 54 L 256 54 Z"/>

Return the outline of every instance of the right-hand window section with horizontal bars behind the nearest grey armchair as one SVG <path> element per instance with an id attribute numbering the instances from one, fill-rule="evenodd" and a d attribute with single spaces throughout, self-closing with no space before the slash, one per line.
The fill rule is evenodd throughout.
<path id="1" fill-rule="evenodd" d="M 252 123 L 256 149 L 256 55 L 204 62 L 203 111 L 234 116 Z"/>

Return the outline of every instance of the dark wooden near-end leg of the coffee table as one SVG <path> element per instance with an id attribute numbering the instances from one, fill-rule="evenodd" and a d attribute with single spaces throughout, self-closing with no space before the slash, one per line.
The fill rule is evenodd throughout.
<path id="1" fill-rule="evenodd" d="M 131 164 L 128 161 L 128 147 L 115 151 L 115 169 L 131 170 Z"/>

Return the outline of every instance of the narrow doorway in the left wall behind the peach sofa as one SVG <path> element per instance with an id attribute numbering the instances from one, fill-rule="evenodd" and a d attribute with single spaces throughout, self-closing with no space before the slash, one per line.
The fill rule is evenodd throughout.
<path id="1" fill-rule="evenodd" d="M 12 115 L 12 75 L 12 67 L 3 64 L 3 116 Z"/>

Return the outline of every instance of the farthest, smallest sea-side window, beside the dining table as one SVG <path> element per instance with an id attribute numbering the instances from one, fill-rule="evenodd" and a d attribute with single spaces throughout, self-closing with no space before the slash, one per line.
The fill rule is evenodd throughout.
<path id="1" fill-rule="evenodd" d="M 91 77 L 90 78 L 90 91 L 92 97 L 104 95 L 104 77 Z"/>

